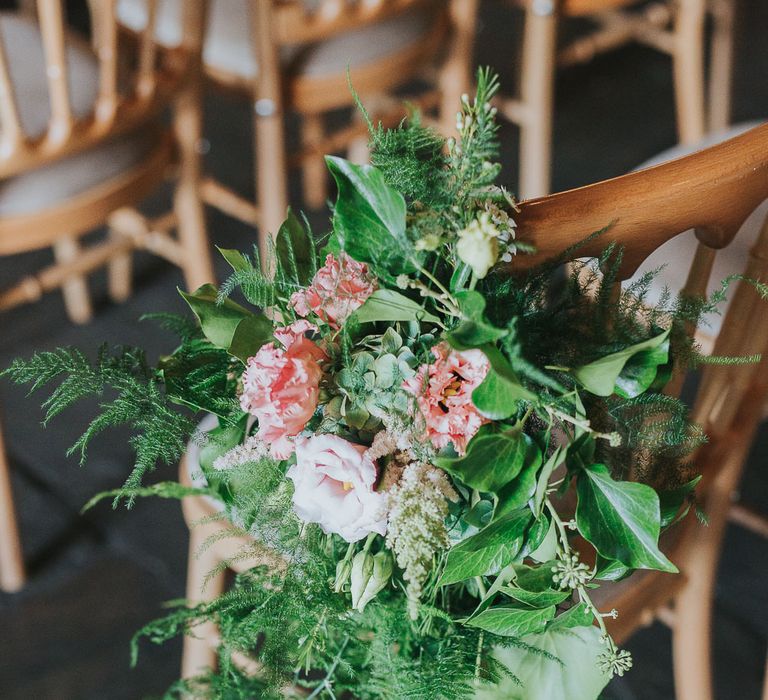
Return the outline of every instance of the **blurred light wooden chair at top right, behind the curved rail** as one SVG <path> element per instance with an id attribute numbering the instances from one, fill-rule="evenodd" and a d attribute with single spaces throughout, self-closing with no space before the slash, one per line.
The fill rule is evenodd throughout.
<path id="1" fill-rule="evenodd" d="M 549 192 L 554 81 L 557 66 L 584 63 L 629 41 L 672 57 L 677 129 L 681 143 L 694 143 L 707 128 L 722 129 L 730 117 L 733 0 L 713 0 L 710 123 L 704 100 L 704 31 L 708 0 L 646 4 L 638 0 L 514 0 L 523 4 L 519 99 L 499 101 L 500 113 L 520 127 L 519 195 Z M 589 18 L 597 29 L 558 49 L 558 23 Z"/>

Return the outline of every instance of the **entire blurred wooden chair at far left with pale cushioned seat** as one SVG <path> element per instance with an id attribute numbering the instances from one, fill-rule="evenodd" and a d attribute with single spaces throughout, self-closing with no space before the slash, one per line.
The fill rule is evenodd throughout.
<path id="1" fill-rule="evenodd" d="M 188 287 L 210 281 L 197 188 L 200 0 L 184 3 L 176 51 L 157 60 L 154 37 L 144 33 L 127 71 L 118 64 L 114 3 L 90 3 L 92 47 L 68 29 L 61 0 L 38 0 L 36 12 L 26 4 L 26 11 L 0 14 L 0 255 L 51 247 L 55 262 L 0 289 L 0 311 L 61 288 L 70 318 L 85 322 L 92 313 L 88 273 L 108 265 L 110 294 L 125 299 L 135 248 L 178 265 Z M 175 141 L 163 122 L 169 107 Z M 133 207 L 163 183 L 174 161 L 173 212 L 149 221 Z M 81 236 L 104 224 L 105 241 L 80 246 Z M 15 588 L 21 559 L 2 457 L 0 517 L 0 582 Z"/>

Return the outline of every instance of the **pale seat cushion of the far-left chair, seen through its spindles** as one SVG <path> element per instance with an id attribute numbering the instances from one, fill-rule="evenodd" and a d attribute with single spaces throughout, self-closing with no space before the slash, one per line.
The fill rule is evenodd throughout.
<path id="1" fill-rule="evenodd" d="M 24 131 L 32 138 L 42 136 L 51 107 L 40 29 L 28 17 L 3 13 L 0 32 Z M 72 112 L 84 117 L 96 99 L 98 63 L 76 37 L 67 42 L 67 59 Z M 140 163 L 154 145 L 146 132 L 134 133 L 0 180 L 0 217 L 37 213 L 102 185 Z"/>

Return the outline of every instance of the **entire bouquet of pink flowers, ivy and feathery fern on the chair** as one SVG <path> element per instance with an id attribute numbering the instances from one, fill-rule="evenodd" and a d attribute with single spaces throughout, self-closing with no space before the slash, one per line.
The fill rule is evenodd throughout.
<path id="1" fill-rule="evenodd" d="M 218 669 L 171 694 L 578 700 L 632 666 L 594 593 L 676 571 L 659 536 L 691 505 L 703 436 L 662 389 L 718 300 L 650 306 L 650 276 L 617 298 L 608 243 L 570 275 L 574 251 L 516 270 L 530 247 L 494 184 L 495 90 L 481 71 L 458 139 L 413 115 L 370 125 L 373 165 L 328 158 L 330 234 L 289 214 L 269 274 L 222 250 L 229 280 L 183 294 L 194 322 L 153 317 L 181 339 L 156 366 L 62 349 L 7 371 L 63 379 L 48 419 L 103 397 L 83 458 L 104 428 L 134 429 L 118 498 L 206 494 L 251 536 L 232 590 L 137 635 L 219 626 Z M 189 439 L 203 485 L 142 485 Z"/>

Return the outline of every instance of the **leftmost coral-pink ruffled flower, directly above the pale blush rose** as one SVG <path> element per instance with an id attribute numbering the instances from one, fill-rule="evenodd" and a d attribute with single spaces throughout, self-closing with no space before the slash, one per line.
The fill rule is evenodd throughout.
<path id="1" fill-rule="evenodd" d="M 316 330 L 308 321 L 276 328 L 283 345 L 267 343 L 248 358 L 243 373 L 240 406 L 259 421 L 258 436 L 270 443 L 270 454 L 287 459 L 293 452 L 291 437 L 298 435 L 317 408 L 319 363 L 325 353 L 304 333 Z"/>

